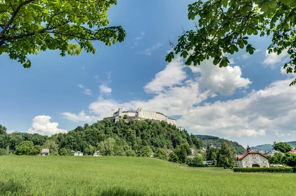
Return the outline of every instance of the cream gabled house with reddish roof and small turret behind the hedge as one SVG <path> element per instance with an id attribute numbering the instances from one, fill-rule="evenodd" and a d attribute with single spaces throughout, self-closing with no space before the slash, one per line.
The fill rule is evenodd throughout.
<path id="1" fill-rule="evenodd" d="M 268 160 L 255 150 L 247 147 L 247 152 L 237 156 L 238 167 L 269 167 Z"/>

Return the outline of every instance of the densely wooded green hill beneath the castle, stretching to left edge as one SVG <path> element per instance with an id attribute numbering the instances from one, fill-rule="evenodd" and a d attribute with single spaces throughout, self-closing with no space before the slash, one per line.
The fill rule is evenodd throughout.
<path id="1" fill-rule="evenodd" d="M 0 150 L 7 149 L 14 151 L 23 141 L 32 141 L 34 145 L 45 147 L 53 141 L 57 145 L 59 154 L 69 154 L 72 150 L 81 151 L 84 154 L 93 154 L 104 145 L 111 145 L 112 152 L 107 155 L 124 156 L 135 154 L 141 156 L 143 149 L 155 150 L 156 148 L 174 149 L 177 145 L 188 143 L 190 147 L 202 148 L 202 141 L 187 131 L 180 131 L 176 126 L 166 122 L 145 121 L 119 121 L 116 124 L 110 120 L 102 120 L 92 125 L 85 124 L 84 127 L 77 127 L 68 133 L 54 134 L 50 137 L 37 133 L 14 132 L 6 133 L 6 128 L 0 133 Z M 49 144 L 48 144 L 49 143 Z M 45 145 L 46 144 L 46 145 Z M 8 147 L 7 147 L 8 146 Z M 145 148 L 146 147 L 146 148 Z M 148 148 L 150 147 L 150 148 Z M 53 147 L 48 147 L 53 148 Z"/>

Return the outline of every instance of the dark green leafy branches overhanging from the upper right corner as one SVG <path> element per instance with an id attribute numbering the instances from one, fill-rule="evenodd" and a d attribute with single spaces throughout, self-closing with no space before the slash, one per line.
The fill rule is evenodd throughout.
<path id="1" fill-rule="evenodd" d="M 288 52 L 284 68 L 296 73 L 295 11 L 295 0 L 198 0 L 188 5 L 188 19 L 198 20 L 196 29 L 184 31 L 166 61 L 171 62 L 175 52 L 186 58 L 185 65 L 212 58 L 214 65 L 224 67 L 229 64 L 227 53 L 245 48 L 252 55 L 255 48 L 247 35 L 260 33 L 272 35 L 268 53 Z"/>

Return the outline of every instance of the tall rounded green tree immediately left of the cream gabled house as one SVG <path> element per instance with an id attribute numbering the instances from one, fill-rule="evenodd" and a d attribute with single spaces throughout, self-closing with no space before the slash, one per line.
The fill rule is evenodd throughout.
<path id="1" fill-rule="evenodd" d="M 222 143 L 219 150 L 219 158 L 217 159 L 217 164 L 223 166 L 225 169 L 232 168 L 236 161 L 236 151 L 233 146 L 231 146 L 230 141 L 226 140 Z"/>

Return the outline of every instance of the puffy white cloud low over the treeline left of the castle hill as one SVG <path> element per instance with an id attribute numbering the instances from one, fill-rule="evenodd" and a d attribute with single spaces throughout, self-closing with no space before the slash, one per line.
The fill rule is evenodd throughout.
<path id="1" fill-rule="evenodd" d="M 50 119 L 50 116 L 36 116 L 32 121 L 32 127 L 27 132 L 39 133 L 41 135 L 52 135 L 60 132 L 67 133 L 66 130 L 58 128 L 58 123 L 51 123 Z"/>

